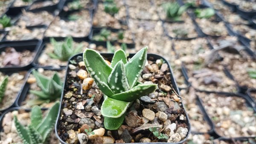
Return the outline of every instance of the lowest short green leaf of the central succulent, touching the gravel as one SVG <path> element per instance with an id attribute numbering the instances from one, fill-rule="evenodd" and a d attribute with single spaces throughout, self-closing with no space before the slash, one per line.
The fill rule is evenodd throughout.
<path id="1" fill-rule="evenodd" d="M 117 130 L 125 119 L 125 113 L 119 118 L 104 117 L 104 127 L 107 130 Z"/>

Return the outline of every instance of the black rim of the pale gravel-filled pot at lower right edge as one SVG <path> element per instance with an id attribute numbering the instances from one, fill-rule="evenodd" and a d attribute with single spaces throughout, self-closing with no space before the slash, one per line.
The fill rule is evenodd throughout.
<path id="1" fill-rule="evenodd" d="M 239 94 L 239 93 L 229 93 L 229 92 L 206 92 L 206 94 L 209 94 L 209 93 L 215 93 L 215 94 L 217 94 L 217 95 L 223 95 L 223 96 L 226 96 L 226 97 L 232 97 L 232 96 L 237 96 L 237 97 L 240 97 L 240 98 L 243 98 L 244 100 L 245 100 L 245 103 L 247 104 L 247 106 L 248 107 L 251 107 L 252 109 L 253 109 L 253 111 L 254 111 L 254 113 L 256 113 L 256 108 L 253 108 L 252 107 L 252 105 L 251 105 L 251 100 L 250 100 L 250 98 L 249 97 L 247 97 L 247 95 L 243 95 L 243 94 Z M 198 100 L 199 100 L 199 102 L 201 103 L 201 105 L 203 106 L 203 108 L 204 108 L 204 103 L 203 103 L 203 101 L 201 100 L 201 98 L 199 98 L 198 97 Z M 206 110 L 205 110 L 206 111 Z M 207 111 L 206 111 L 207 112 Z M 208 114 L 207 114 L 208 115 Z M 209 117 L 209 115 L 208 115 L 208 117 Z M 210 119 L 210 121 L 212 121 L 211 119 Z M 213 122 L 212 122 L 212 124 L 214 124 Z M 215 126 L 215 125 L 214 125 Z M 215 136 L 215 137 L 218 137 L 218 138 L 222 138 L 223 140 L 230 140 L 230 138 L 228 138 L 228 137 L 224 137 L 223 135 L 220 135 L 217 131 L 216 131 L 216 129 L 214 130 L 214 132 L 212 132 L 211 133 L 211 135 L 213 135 L 213 136 Z M 244 139 L 244 138 L 255 138 L 255 137 L 244 137 L 244 136 L 241 136 L 241 137 L 234 137 L 233 139 Z"/>

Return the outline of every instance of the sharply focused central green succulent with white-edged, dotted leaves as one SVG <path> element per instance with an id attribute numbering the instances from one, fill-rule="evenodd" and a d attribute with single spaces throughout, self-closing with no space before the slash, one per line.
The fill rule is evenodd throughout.
<path id="1" fill-rule="evenodd" d="M 141 49 L 127 61 L 125 52 L 119 49 L 114 53 L 111 65 L 99 52 L 93 49 L 84 51 L 86 69 L 104 93 L 101 112 L 106 129 L 118 129 L 133 101 L 157 89 L 157 84 L 140 84 L 137 81 L 147 60 L 147 50 L 148 47 Z"/>

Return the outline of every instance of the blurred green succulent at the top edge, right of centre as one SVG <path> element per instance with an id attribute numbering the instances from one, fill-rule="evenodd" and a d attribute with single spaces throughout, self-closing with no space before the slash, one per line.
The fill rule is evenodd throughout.
<path id="1" fill-rule="evenodd" d="M 186 9 L 189 8 L 189 6 L 191 6 L 191 3 L 186 3 L 183 6 L 180 6 L 177 2 L 164 3 L 163 9 L 166 11 L 167 18 L 174 21 L 179 21 L 180 16 L 186 11 Z"/>

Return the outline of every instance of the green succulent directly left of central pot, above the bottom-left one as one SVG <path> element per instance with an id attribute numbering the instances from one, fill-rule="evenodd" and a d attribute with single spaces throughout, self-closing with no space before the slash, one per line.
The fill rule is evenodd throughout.
<path id="1" fill-rule="evenodd" d="M 42 100 L 55 100 L 61 96 L 62 83 L 58 73 L 48 78 L 37 72 L 35 69 L 32 71 L 36 79 L 37 85 L 41 88 L 41 91 L 29 90 L 30 93 L 37 95 Z"/>

